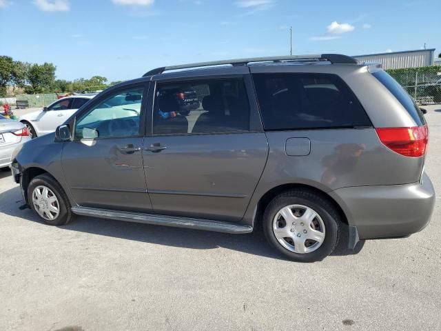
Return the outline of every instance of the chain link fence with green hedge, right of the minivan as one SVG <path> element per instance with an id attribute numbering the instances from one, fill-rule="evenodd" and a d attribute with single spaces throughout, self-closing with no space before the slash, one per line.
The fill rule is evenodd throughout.
<path id="1" fill-rule="evenodd" d="M 418 105 L 441 103 L 441 66 L 387 70 Z"/>

